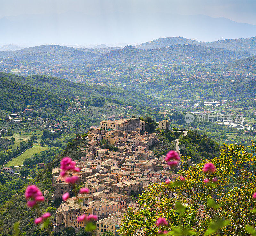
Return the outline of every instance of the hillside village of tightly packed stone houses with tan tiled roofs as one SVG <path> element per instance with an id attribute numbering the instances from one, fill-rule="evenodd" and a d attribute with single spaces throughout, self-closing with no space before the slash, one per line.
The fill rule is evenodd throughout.
<path id="1" fill-rule="evenodd" d="M 159 122 L 162 129 L 169 129 L 169 121 Z M 165 156 L 156 158 L 149 150 L 158 139 L 156 133 L 145 131 L 145 121 L 137 118 L 107 120 L 100 122 L 100 127 L 89 131 L 88 144 L 80 149 L 81 160 L 74 160 L 80 172 L 70 172 L 78 177 L 78 183 L 88 188 L 88 194 L 79 193 L 60 204 L 54 231 L 62 227 L 73 227 L 78 232 L 84 227 L 77 221 L 81 214 L 98 216 L 97 236 L 110 231 L 116 235 L 121 217 L 127 207 L 138 207 L 134 196 L 147 190 L 148 186 L 166 179 L 176 179 L 178 174 L 170 177 L 170 167 L 164 161 Z M 80 138 L 75 138 L 78 142 Z M 102 148 L 100 142 L 105 140 L 114 145 L 113 151 Z M 182 160 L 177 168 L 180 168 Z M 66 192 L 73 193 L 72 184 L 60 175 L 60 168 L 52 169 L 52 185 L 55 191 L 52 202 Z M 75 201 L 74 201 L 75 200 Z"/>

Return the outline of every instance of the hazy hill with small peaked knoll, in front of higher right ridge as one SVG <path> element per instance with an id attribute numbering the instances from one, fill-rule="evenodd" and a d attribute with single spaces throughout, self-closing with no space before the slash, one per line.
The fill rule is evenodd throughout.
<path id="1" fill-rule="evenodd" d="M 103 54 L 99 63 L 140 65 L 168 63 L 221 63 L 252 56 L 249 52 L 216 49 L 200 45 L 172 45 L 167 48 L 139 49 L 126 46 Z"/>

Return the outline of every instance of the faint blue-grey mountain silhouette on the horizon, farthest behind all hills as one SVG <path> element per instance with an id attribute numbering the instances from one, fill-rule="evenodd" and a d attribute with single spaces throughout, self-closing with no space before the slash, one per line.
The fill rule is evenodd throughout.
<path id="1" fill-rule="evenodd" d="M 100 45 L 146 42 L 168 36 L 182 36 L 211 42 L 227 38 L 249 38 L 256 26 L 223 17 L 147 12 L 81 12 L 23 14 L 0 19 L 0 45 Z"/>

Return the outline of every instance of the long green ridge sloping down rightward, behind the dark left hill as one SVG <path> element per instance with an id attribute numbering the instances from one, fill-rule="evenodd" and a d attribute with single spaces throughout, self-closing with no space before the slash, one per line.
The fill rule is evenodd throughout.
<path id="1" fill-rule="evenodd" d="M 141 104 L 147 106 L 157 106 L 161 103 L 159 99 L 139 92 L 126 91 L 107 86 L 75 83 L 45 75 L 23 77 L 0 72 L 0 77 L 52 92 L 57 94 L 59 97 L 81 96 L 87 98 L 112 98 L 124 103 Z"/>

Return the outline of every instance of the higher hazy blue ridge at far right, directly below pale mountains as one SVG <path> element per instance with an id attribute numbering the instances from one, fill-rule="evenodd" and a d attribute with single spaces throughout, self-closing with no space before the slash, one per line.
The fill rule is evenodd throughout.
<path id="1" fill-rule="evenodd" d="M 248 51 L 256 54 L 256 37 L 240 39 L 224 39 L 214 42 L 200 42 L 182 37 L 159 38 L 137 45 L 140 49 L 156 49 L 177 44 L 196 44 L 212 48 L 225 48 L 233 51 Z"/>

